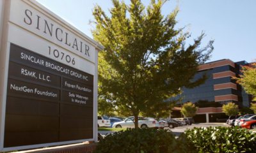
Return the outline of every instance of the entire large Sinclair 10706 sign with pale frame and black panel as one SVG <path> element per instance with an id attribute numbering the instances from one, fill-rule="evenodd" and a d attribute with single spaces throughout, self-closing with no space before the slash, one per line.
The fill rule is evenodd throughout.
<path id="1" fill-rule="evenodd" d="M 102 46 L 36 1 L 0 3 L 0 151 L 97 141 Z"/>

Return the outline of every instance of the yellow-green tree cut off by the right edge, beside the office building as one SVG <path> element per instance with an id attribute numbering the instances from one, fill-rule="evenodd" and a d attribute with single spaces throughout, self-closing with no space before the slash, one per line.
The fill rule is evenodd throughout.
<path id="1" fill-rule="evenodd" d="M 235 78 L 237 83 L 242 85 L 244 91 L 254 96 L 253 101 L 256 101 L 256 62 L 250 66 L 242 67 L 240 78 Z"/>

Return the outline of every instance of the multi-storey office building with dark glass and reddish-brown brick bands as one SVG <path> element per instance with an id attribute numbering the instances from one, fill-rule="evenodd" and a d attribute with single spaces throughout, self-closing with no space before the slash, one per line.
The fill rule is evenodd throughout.
<path id="1" fill-rule="evenodd" d="M 241 66 L 248 65 L 246 61 L 233 62 L 230 59 L 208 62 L 198 68 L 195 80 L 207 76 L 202 85 L 193 89 L 182 89 L 181 103 L 191 101 L 198 106 L 195 120 L 198 122 L 218 122 L 227 118 L 221 106 L 236 103 L 239 108 L 249 107 L 252 97 L 244 92 L 241 85 L 236 84 L 232 77 L 239 77 Z M 223 120 L 222 120 L 223 121 Z"/>

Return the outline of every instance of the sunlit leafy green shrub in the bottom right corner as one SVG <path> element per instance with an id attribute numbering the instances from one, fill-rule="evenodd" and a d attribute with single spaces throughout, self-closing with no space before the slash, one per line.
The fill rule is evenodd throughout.
<path id="1" fill-rule="evenodd" d="M 196 152 L 256 152 L 256 134 L 247 129 L 194 128 L 186 130 L 181 138 Z"/>

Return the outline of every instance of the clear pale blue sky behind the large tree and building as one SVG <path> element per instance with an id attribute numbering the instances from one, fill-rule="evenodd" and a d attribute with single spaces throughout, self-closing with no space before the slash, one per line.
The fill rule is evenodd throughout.
<path id="1" fill-rule="evenodd" d="M 36 0 L 59 17 L 92 38 L 92 10 L 99 4 L 107 13 L 111 0 Z M 129 3 L 129 0 L 124 0 Z M 145 6 L 150 0 L 141 0 Z M 214 40 L 214 51 L 207 62 L 230 59 L 234 62 L 256 60 L 256 1 L 255 0 L 169 0 L 162 13 L 168 15 L 179 7 L 176 28 L 185 27 L 191 33 L 186 42 L 192 43 L 202 31 L 204 47 Z M 109 15 L 109 13 L 107 13 Z"/>

